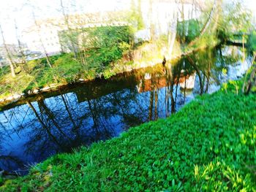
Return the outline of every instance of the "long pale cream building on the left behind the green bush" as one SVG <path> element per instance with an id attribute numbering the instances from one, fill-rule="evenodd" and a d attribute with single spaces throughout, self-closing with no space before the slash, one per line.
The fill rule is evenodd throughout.
<path id="1" fill-rule="evenodd" d="M 48 53 L 66 52 L 61 45 L 60 34 L 81 28 L 92 28 L 106 25 L 124 25 L 125 12 L 95 12 L 90 14 L 65 15 L 65 17 L 36 20 L 22 33 L 23 42 L 32 51 Z"/>

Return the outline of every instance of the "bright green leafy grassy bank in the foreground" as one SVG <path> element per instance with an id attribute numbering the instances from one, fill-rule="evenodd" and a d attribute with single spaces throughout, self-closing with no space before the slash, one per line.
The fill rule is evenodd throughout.
<path id="1" fill-rule="evenodd" d="M 233 84 L 170 118 L 54 155 L 0 191 L 255 191 L 256 95 Z"/>

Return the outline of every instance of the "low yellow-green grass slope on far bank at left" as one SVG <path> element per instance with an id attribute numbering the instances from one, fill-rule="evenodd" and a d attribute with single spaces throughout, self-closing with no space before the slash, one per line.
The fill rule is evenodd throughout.
<path id="1" fill-rule="evenodd" d="M 57 59 L 54 60 L 54 57 Z M 26 71 L 21 70 L 18 66 L 15 69 L 16 77 L 12 77 L 9 66 L 0 69 L 0 99 L 14 94 L 27 93 L 50 84 L 67 85 L 71 82 L 78 82 L 80 78 L 91 80 L 111 67 L 85 69 L 88 66 L 85 67 L 75 61 L 70 53 L 51 57 L 52 68 L 45 64 L 44 60 L 45 58 L 29 61 L 25 66 Z M 96 72 L 97 70 L 98 72 Z"/>

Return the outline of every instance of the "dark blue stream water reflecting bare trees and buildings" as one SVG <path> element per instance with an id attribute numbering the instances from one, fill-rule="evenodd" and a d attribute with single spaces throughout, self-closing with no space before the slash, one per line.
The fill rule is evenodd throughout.
<path id="1" fill-rule="evenodd" d="M 201 91 L 212 93 L 222 82 L 241 77 L 250 65 L 242 54 L 239 47 L 204 50 L 165 66 L 69 85 L 7 106 L 0 112 L 0 169 L 26 174 L 50 155 L 166 118 Z"/>

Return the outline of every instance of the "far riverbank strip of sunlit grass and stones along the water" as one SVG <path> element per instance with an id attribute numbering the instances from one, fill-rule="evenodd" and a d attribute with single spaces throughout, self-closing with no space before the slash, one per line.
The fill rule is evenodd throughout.
<path id="1" fill-rule="evenodd" d="M 211 44 L 206 45 L 207 41 Z M 159 39 L 157 43 L 147 42 L 136 47 L 132 50 L 132 56 L 123 55 L 106 69 L 87 69 L 69 54 L 53 56 L 51 58 L 53 68 L 45 65 L 45 58 L 29 61 L 26 69 L 16 69 L 18 73 L 16 77 L 12 77 L 10 69 L 6 67 L 1 69 L 2 72 L 0 70 L 0 108 L 26 96 L 56 91 L 74 83 L 88 82 L 96 78 L 108 79 L 124 72 L 156 66 L 162 64 L 163 58 L 166 58 L 166 62 L 173 62 L 181 56 L 204 50 L 206 47 L 217 46 L 219 43 L 213 36 L 202 37 L 195 45 L 184 48 L 175 42 L 173 54 L 168 58 L 165 56 L 167 55 L 166 39 Z"/>

